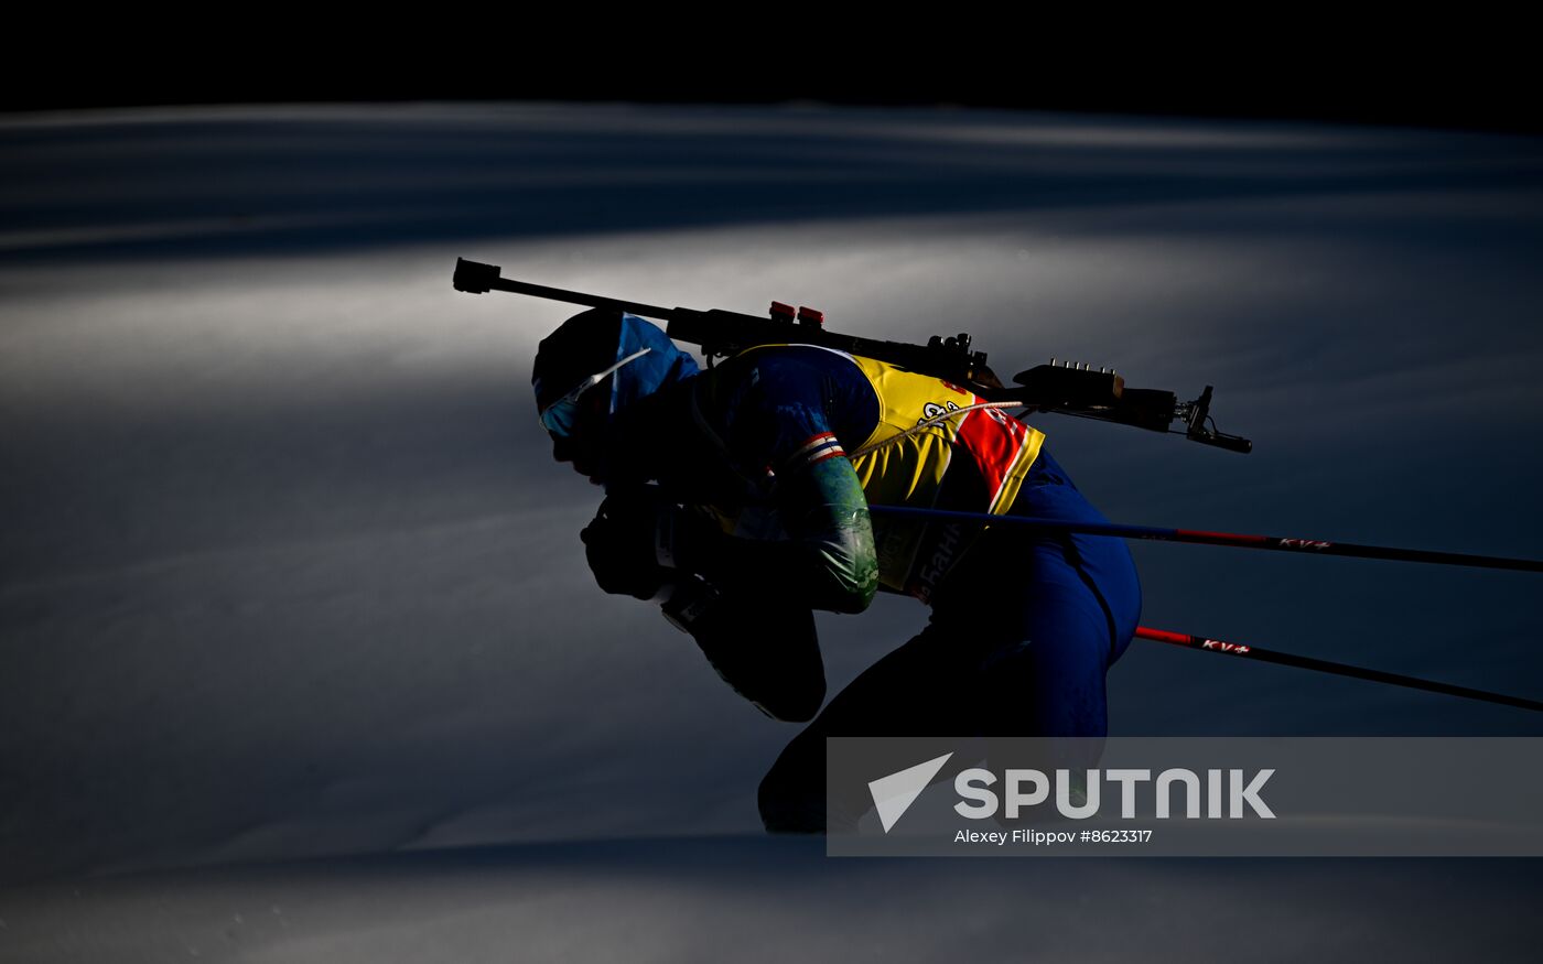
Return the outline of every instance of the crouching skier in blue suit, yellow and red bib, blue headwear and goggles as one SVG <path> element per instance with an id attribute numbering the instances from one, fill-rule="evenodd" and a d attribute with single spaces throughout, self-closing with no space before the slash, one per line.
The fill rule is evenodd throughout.
<path id="1" fill-rule="evenodd" d="M 768 830 L 861 816 L 827 811 L 827 736 L 1105 736 L 1105 676 L 1140 614 L 1122 540 L 869 514 L 1105 521 L 1042 432 L 824 347 L 699 370 L 654 324 L 602 308 L 542 341 L 532 383 L 554 457 L 606 487 L 582 534 L 602 589 L 659 602 L 767 714 L 813 717 L 761 784 Z M 921 600 L 927 626 L 821 710 L 812 611 L 861 612 L 875 592 Z"/>

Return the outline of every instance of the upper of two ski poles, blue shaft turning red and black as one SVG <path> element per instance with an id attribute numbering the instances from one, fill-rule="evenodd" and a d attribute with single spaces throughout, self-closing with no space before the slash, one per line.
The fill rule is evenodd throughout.
<path id="1" fill-rule="evenodd" d="M 986 512 L 952 512 L 947 509 L 913 509 L 909 506 L 869 506 L 880 515 L 912 515 L 921 518 L 974 521 L 989 524 L 1028 526 L 1058 532 L 1085 532 L 1088 535 L 1114 535 L 1120 538 L 1148 538 L 1168 543 L 1193 543 L 1202 546 L 1237 546 L 1239 549 L 1278 549 L 1284 552 L 1307 552 L 1312 555 L 1341 555 L 1353 558 L 1390 558 L 1407 563 L 1440 563 L 1447 566 L 1478 566 L 1484 569 L 1514 569 L 1520 572 L 1543 572 L 1543 561 L 1531 558 L 1506 558 L 1501 555 L 1469 555 L 1466 552 L 1432 552 L 1429 549 L 1396 549 L 1392 546 L 1361 546 L 1355 543 L 1330 543 L 1316 538 L 1287 538 L 1281 535 L 1239 535 L 1234 532 L 1204 532 L 1200 529 L 1162 529 L 1157 526 L 1125 526 L 1119 523 L 1071 521 L 1063 518 L 1029 518 L 1023 515 L 989 515 Z"/>

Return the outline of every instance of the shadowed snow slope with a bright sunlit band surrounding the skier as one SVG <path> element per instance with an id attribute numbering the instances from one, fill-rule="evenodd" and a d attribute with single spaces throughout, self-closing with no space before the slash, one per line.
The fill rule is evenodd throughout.
<path id="1" fill-rule="evenodd" d="M 0 959 L 1521 945 L 1526 862 L 869 862 L 755 838 L 793 730 L 589 581 L 599 494 L 546 457 L 528 389 L 569 310 L 449 279 L 464 256 L 653 304 L 776 298 L 859 335 L 967 330 L 1006 373 L 1216 384 L 1254 455 L 1038 424 L 1114 520 L 1538 557 L 1540 187 L 1535 139 L 1281 123 L 0 119 Z M 1535 577 L 1134 549 L 1146 625 L 1543 696 Z M 896 598 L 822 619 L 832 689 L 921 620 Z M 1140 642 L 1111 725 L 1543 733 Z"/>

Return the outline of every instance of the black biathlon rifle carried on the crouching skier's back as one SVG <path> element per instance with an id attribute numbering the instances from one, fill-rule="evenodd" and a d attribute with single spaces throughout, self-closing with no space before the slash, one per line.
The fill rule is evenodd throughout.
<path id="1" fill-rule="evenodd" d="M 1227 449 L 1228 452 L 1251 452 L 1253 443 L 1239 435 L 1216 430 L 1211 421 L 1211 386 L 1205 386 L 1194 401 L 1179 401 L 1173 392 L 1157 389 L 1128 389 L 1125 379 L 1113 370 L 1089 366 L 1049 364 L 1035 366 L 1012 376 L 1012 386 L 1003 386 L 997 373 L 986 364 L 984 352 L 974 352 L 967 333 L 943 338 L 934 335 L 926 345 L 898 341 L 880 341 L 838 335 L 826 330 L 824 312 L 815 308 L 772 302 L 767 318 L 725 312 L 722 308 L 663 308 L 659 305 L 619 298 L 603 298 L 583 292 L 549 288 L 546 285 L 514 281 L 500 276 L 498 265 L 455 259 L 454 285 L 457 292 L 481 295 L 491 290 L 529 295 L 549 301 L 591 308 L 614 308 L 667 322 L 665 335 L 702 349 L 707 366 L 713 359 L 736 355 L 762 344 L 812 344 L 859 355 L 875 361 L 900 366 L 909 372 L 930 375 L 961 386 L 994 403 L 1018 403 L 1040 412 L 1077 415 L 1096 421 L 1111 421 L 1151 432 L 1183 435 L 1190 441 Z M 1182 430 L 1171 429 L 1182 423 Z"/>

